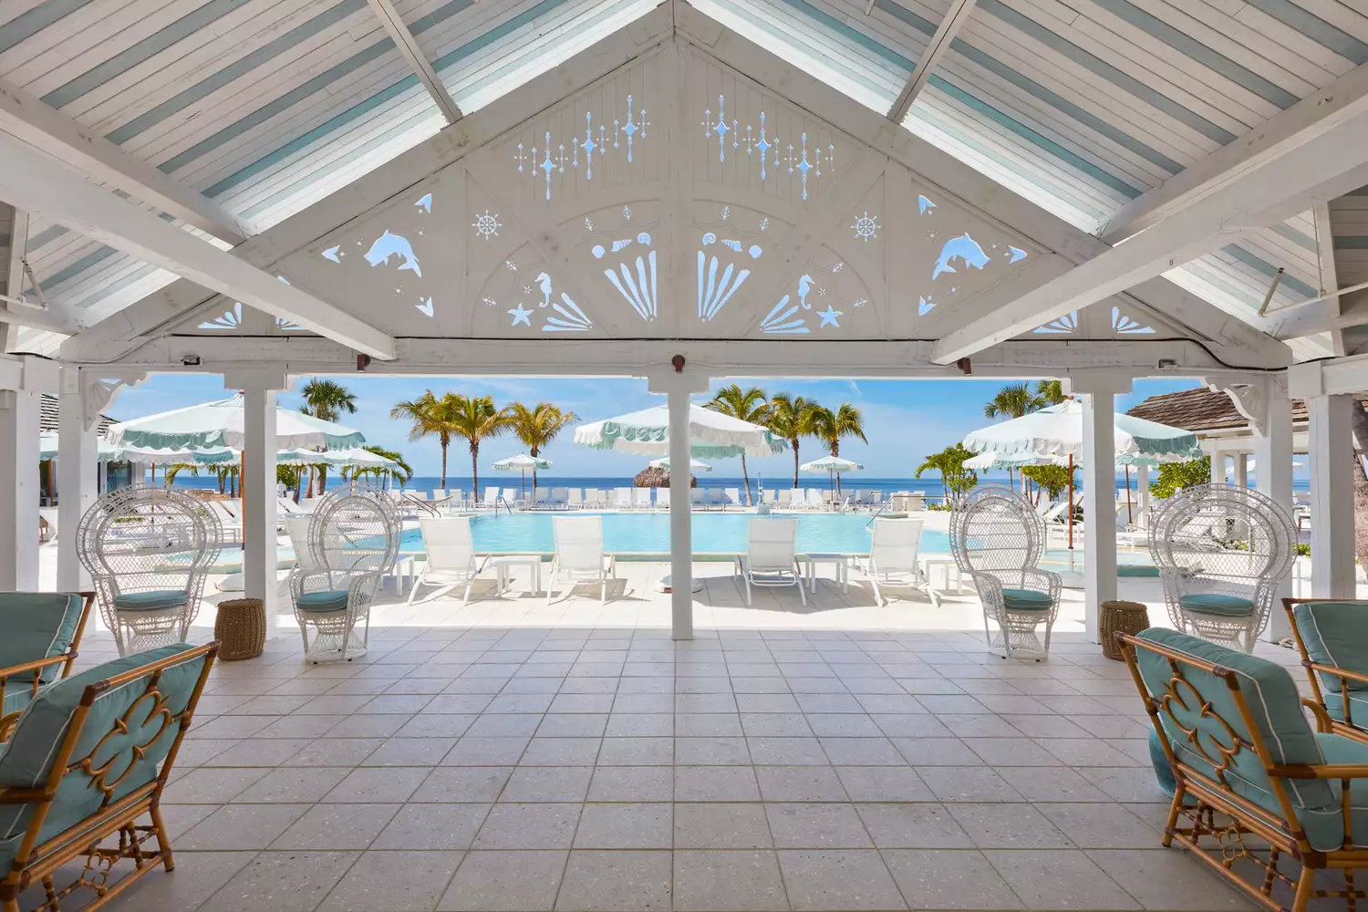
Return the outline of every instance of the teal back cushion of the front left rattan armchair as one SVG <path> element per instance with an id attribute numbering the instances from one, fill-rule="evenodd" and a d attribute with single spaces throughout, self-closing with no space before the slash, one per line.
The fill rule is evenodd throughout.
<path id="1" fill-rule="evenodd" d="M 31 789 L 47 781 L 57 748 L 67 736 L 89 685 L 193 648 L 176 643 L 138 652 L 45 686 L 19 716 L 14 733 L 0 751 L 0 788 Z M 207 656 L 200 656 L 194 662 L 163 670 L 157 689 L 168 714 L 176 715 L 190 703 L 205 660 Z M 73 762 L 90 757 L 93 770 L 108 767 L 104 782 L 118 782 L 112 792 L 114 801 L 156 778 L 179 729 L 176 725 L 166 725 L 161 712 L 153 712 L 157 703 L 155 699 L 140 701 L 146 693 L 148 680 L 137 677 L 98 693 L 71 752 Z M 122 733 L 116 732 L 120 721 L 127 729 Z M 67 773 L 44 818 L 38 841 L 49 840 L 88 819 L 100 809 L 103 799 L 104 793 L 85 770 Z M 0 868 L 10 870 L 34 808 L 31 804 L 0 807 Z"/>

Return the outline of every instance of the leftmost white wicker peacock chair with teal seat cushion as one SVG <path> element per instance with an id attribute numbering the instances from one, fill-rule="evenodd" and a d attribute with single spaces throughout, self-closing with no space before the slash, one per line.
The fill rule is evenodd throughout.
<path id="1" fill-rule="evenodd" d="M 207 505 L 174 488 L 118 488 L 86 510 L 77 555 L 119 655 L 185 643 L 222 539 Z"/>

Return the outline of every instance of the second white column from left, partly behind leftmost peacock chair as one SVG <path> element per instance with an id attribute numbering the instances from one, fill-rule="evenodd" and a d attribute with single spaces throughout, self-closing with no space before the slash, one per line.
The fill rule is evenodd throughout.
<path id="1" fill-rule="evenodd" d="M 57 589 L 85 592 L 90 589 L 90 574 L 77 554 L 77 526 L 100 496 L 100 453 L 81 368 L 62 368 L 57 405 Z"/>

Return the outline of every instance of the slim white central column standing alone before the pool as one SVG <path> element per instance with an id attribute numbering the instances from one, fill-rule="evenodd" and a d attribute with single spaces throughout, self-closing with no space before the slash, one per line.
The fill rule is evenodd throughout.
<path id="1" fill-rule="evenodd" d="M 674 640 L 694 639 L 694 529 L 689 505 L 689 395 L 707 391 L 707 377 L 676 369 L 650 377 L 650 391 L 663 392 L 670 416 L 670 630 Z"/>

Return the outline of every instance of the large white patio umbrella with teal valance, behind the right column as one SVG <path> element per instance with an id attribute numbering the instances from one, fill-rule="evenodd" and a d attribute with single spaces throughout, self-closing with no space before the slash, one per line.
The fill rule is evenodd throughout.
<path id="1" fill-rule="evenodd" d="M 1123 413 L 1115 416 L 1114 424 L 1118 462 L 1123 458 L 1149 458 L 1160 462 L 1190 459 L 1197 448 L 1197 435 L 1192 431 Z M 1068 399 L 1011 421 L 993 424 L 974 431 L 963 443 L 974 453 L 1062 459 L 1073 479 L 1074 457 L 1083 451 L 1083 403 Z M 1068 547 L 1070 550 L 1074 547 L 1073 484 L 1068 485 Z"/>

